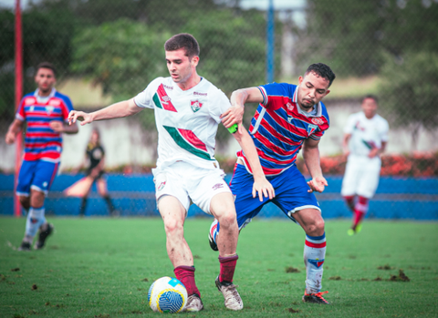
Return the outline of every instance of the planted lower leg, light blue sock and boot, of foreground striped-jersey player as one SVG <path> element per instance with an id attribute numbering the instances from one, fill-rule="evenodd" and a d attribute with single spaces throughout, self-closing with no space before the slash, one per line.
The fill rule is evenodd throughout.
<path id="1" fill-rule="evenodd" d="M 321 212 L 316 209 L 299 210 L 293 214 L 299 225 L 306 231 L 304 263 L 306 264 L 306 291 L 303 302 L 328 304 L 322 297 L 321 281 L 326 256 L 326 234 Z"/>

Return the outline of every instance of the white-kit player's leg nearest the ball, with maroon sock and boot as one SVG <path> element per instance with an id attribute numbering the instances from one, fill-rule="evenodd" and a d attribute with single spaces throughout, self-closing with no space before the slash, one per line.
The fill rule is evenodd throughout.
<path id="1" fill-rule="evenodd" d="M 167 254 L 172 262 L 173 272 L 176 278 L 183 282 L 189 296 L 186 311 L 199 312 L 203 310 L 201 292 L 194 282 L 192 251 L 184 239 L 184 221 L 187 211 L 178 199 L 169 195 L 160 198 L 158 210 L 164 222 Z"/>

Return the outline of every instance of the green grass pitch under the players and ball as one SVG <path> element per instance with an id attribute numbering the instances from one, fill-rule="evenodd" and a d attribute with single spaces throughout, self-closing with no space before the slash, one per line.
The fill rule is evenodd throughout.
<path id="1" fill-rule="evenodd" d="M 285 219 L 286 220 L 286 219 Z M 173 275 L 159 219 L 50 219 L 43 251 L 15 251 L 25 219 L 0 218 L 0 317 L 149 317 L 151 283 Z M 253 221 L 242 232 L 235 283 L 245 304 L 224 309 L 214 287 L 217 253 L 211 219 L 186 221 L 204 311 L 187 317 L 438 316 L 438 224 L 368 221 L 349 237 L 349 221 L 327 221 L 323 290 L 329 306 L 301 302 L 304 232 L 290 221 Z M 286 271 L 293 267 L 299 272 Z M 386 270 L 379 269 L 386 268 Z M 410 282 L 391 281 L 402 270 Z"/>

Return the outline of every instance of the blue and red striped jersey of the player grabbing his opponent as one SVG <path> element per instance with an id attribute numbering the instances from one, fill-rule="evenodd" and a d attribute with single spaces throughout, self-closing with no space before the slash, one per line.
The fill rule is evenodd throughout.
<path id="1" fill-rule="evenodd" d="M 307 113 L 297 105 L 296 85 L 272 83 L 258 87 L 263 95 L 249 132 L 266 176 L 275 176 L 294 165 L 307 138 L 318 140 L 328 129 L 327 109 L 322 102 Z M 251 172 L 243 150 L 237 157 Z"/>

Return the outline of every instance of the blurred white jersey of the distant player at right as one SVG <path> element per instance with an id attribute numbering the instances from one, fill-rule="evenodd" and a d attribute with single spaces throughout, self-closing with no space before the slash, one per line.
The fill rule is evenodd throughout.
<path id="1" fill-rule="evenodd" d="M 346 134 L 351 134 L 349 150 L 352 155 L 368 156 L 371 149 L 381 149 L 381 143 L 388 141 L 388 121 L 376 114 L 366 118 L 363 111 L 351 114 L 344 128 Z"/>

